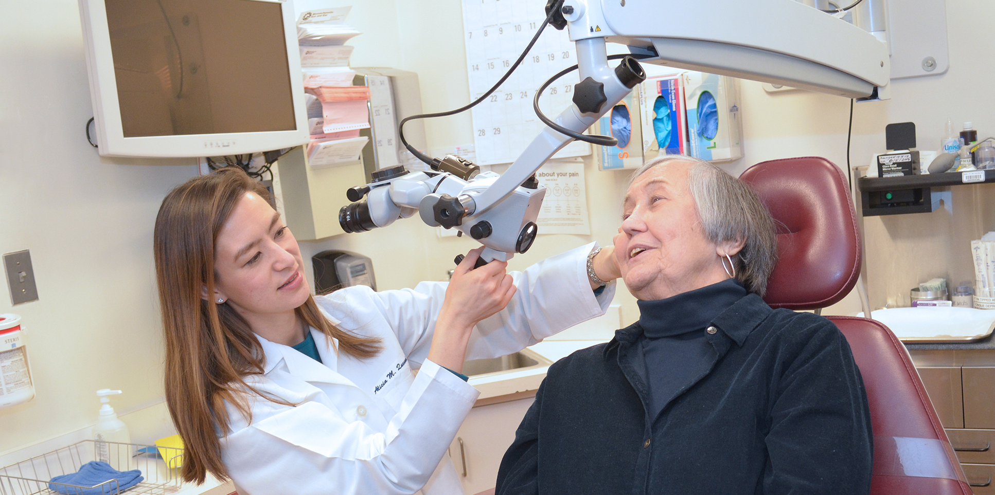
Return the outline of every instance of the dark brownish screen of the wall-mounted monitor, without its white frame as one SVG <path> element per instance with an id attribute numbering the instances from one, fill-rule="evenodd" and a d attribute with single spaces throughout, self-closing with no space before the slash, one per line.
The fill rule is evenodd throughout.
<path id="1" fill-rule="evenodd" d="M 104 5 L 123 137 L 297 129 L 280 3 Z"/>

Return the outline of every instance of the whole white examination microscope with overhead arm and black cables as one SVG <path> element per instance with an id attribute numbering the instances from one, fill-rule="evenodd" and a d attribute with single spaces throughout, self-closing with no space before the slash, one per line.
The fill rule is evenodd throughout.
<path id="1" fill-rule="evenodd" d="M 811 0 L 808 0 L 811 2 Z M 574 139 L 614 146 L 609 136 L 582 134 L 646 79 L 640 64 L 657 64 L 735 78 L 783 84 L 844 97 L 887 99 L 891 67 L 883 37 L 885 0 L 857 0 L 826 11 L 794 0 L 549 0 L 546 20 L 507 74 L 490 91 L 456 110 L 413 115 L 399 125 L 401 141 L 432 170 L 403 166 L 378 170 L 372 182 L 348 190 L 353 203 L 339 212 L 347 233 L 387 227 L 417 211 L 429 226 L 457 229 L 486 248 L 478 265 L 515 252 L 535 240 L 545 188 L 534 173 Z M 834 15 L 853 8 L 861 29 Z M 703 20 L 706 19 L 706 20 Z M 533 107 L 546 127 L 503 175 L 480 172 L 455 155 L 429 158 L 404 140 L 407 120 L 451 115 L 486 99 L 517 68 L 547 24 L 567 28 L 577 65 L 535 91 Z M 605 44 L 629 47 L 630 55 L 607 55 Z M 609 60 L 621 62 L 614 68 Z M 539 95 L 577 70 L 573 104 L 546 117 Z M 363 200 L 363 197 L 366 197 Z"/>

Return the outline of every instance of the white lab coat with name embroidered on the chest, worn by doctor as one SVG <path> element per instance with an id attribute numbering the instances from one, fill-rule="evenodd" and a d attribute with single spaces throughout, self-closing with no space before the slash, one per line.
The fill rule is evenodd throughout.
<path id="1" fill-rule="evenodd" d="M 467 359 L 516 352 L 604 314 L 615 284 L 593 294 L 585 267 L 593 247 L 512 272 L 517 292 L 477 325 Z M 426 359 L 446 286 L 360 285 L 316 297 L 339 327 L 382 339 L 373 358 L 336 353 L 314 329 L 323 364 L 259 338 L 265 375 L 247 382 L 297 406 L 249 396 L 251 422 L 228 406 L 222 456 L 241 495 L 463 494 L 447 449 L 480 393 Z"/>

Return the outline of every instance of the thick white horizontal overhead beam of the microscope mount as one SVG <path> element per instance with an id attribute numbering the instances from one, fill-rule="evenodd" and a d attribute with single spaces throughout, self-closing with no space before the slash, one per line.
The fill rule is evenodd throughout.
<path id="1" fill-rule="evenodd" d="M 571 39 L 600 27 L 610 42 L 654 47 L 660 60 L 649 64 L 850 98 L 871 97 L 891 79 L 885 43 L 793 0 L 587 3 L 588 15 L 569 24 Z"/>

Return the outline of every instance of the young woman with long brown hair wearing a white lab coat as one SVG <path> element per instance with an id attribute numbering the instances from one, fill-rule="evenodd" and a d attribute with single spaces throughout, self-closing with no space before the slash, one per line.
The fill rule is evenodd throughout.
<path id="1" fill-rule="evenodd" d="M 242 495 L 462 494 L 446 451 L 479 395 L 464 360 L 521 350 L 614 295 L 600 288 L 618 277 L 614 256 L 587 246 L 512 274 L 497 261 L 472 269 L 474 249 L 448 284 L 311 296 L 270 204 L 225 168 L 178 186 L 156 218 L 186 481 L 210 472 Z"/>

